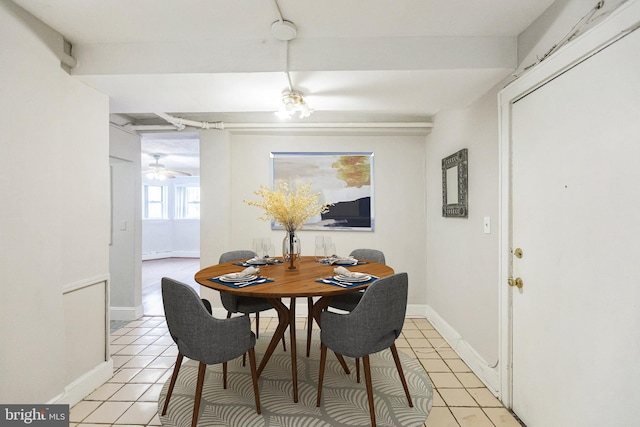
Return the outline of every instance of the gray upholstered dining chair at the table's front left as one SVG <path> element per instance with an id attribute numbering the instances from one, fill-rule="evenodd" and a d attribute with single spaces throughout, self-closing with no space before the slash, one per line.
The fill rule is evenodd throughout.
<path id="1" fill-rule="evenodd" d="M 210 305 L 200 300 L 189 285 L 167 277 L 162 278 L 162 302 L 171 338 L 178 346 L 178 357 L 173 368 L 167 397 L 162 408 L 166 415 L 173 388 L 178 378 L 183 357 L 197 360 L 198 380 L 193 400 L 191 426 L 198 423 L 202 388 L 207 365 L 222 363 L 223 387 L 227 388 L 227 361 L 249 352 L 251 379 L 256 402 L 256 412 L 260 413 L 260 393 L 254 345 L 256 336 L 251 332 L 248 317 L 216 319 L 211 315 Z"/>

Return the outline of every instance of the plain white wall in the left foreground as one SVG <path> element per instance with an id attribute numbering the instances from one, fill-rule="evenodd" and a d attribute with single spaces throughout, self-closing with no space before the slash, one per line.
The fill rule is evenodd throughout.
<path id="1" fill-rule="evenodd" d="M 71 402 L 112 373 L 108 99 L 61 69 L 62 37 L 12 2 L 0 28 L 0 402 Z M 97 316 L 77 321 L 79 306 Z"/>

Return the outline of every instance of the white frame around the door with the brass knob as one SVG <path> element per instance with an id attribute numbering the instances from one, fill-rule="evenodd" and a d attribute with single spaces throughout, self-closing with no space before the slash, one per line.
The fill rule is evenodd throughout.
<path id="1" fill-rule="evenodd" d="M 499 150 L 499 397 L 513 407 L 512 296 L 507 285 L 512 269 L 511 120 L 513 103 L 640 27 L 640 1 L 626 2 L 598 25 L 509 83 L 498 94 Z"/>

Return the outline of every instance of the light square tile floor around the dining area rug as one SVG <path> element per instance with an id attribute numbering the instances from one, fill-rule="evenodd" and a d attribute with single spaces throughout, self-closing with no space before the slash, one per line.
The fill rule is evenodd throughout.
<path id="1" fill-rule="evenodd" d="M 261 317 L 261 334 L 276 326 L 276 318 Z M 305 330 L 306 319 L 296 328 Z M 396 346 L 418 359 L 433 383 L 433 409 L 424 427 L 521 426 L 426 319 L 408 318 Z M 177 355 L 164 317 L 145 316 L 113 331 L 111 353 L 113 377 L 71 408 L 70 425 L 161 425 L 158 395 Z"/>

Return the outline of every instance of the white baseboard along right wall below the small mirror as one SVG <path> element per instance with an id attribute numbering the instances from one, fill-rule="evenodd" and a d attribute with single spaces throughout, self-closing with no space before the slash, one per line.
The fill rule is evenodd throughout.
<path id="1" fill-rule="evenodd" d="M 427 320 L 431 322 L 442 338 L 458 353 L 460 358 L 469 366 L 471 371 L 476 374 L 480 381 L 482 381 L 495 396 L 498 396 L 500 390 L 499 365 L 495 367 L 489 366 L 487 361 L 428 305 L 426 306 L 426 314 Z"/>

